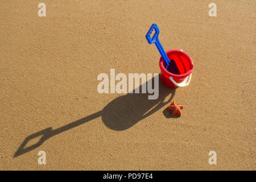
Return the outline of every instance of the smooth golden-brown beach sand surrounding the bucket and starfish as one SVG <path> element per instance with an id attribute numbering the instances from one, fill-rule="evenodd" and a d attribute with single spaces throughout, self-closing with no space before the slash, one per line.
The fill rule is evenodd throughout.
<path id="1" fill-rule="evenodd" d="M 0 169 L 255 170 L 255 1 L 214 0 L 217 17 L 210 2 L 1 1 Z M 160 72 L 152 23 L 192 57 L 191 84 L 159 83 L 158 100 L 98 93 L 111 68 Z"/>

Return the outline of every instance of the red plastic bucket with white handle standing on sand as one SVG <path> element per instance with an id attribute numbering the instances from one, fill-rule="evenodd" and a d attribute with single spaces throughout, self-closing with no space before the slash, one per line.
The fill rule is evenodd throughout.
<path id="1" fill-rule="evenodd" d="M 180 50 L 169 50 L 166 51 L 169 60 L 174 60 L 176 69 L 178 69 L 178 74 L 169 72 L 170 69 L 165 68 L 164 60 L 160 57 L 159 67 L 161 69 L 160 80 L 161 82 L 170 87 L 177 88 L 178 86 L 187 86 L 191 80 L 193 61 L 187 53 Z M 171 67 L 172 65 L 169 65 Z M 169 71 L 168 71 L 169 70 Z M 176 73 L 176 74 L 175 74 Z"/>

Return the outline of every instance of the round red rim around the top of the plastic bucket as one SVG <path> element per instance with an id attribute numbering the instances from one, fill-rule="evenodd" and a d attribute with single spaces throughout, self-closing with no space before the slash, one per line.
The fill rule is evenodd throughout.
<path id="1" fill-rule="evenodd" d="M 194 66 L 191 57 L 187 53 L 180 51 L 180 50 L 176 50 L 176 49 L 171 49 L 171 50 L 166 51 L 167 56 L 168 56 L 168 53 L 170 53 L 170 52 L 179 52 L 179 53 L 185 55 L 188 58 L 188 60 L 190 61 L 190 68 L 186 73 L 181 74 L 181 75 L 176 75 L 174 73 L 168 72 L 167 69 L 164 68 L 163 57 L 161 56 L 160 60 L 159 60 L 159 67 L 160 67 L 161 71 L 164 73 L 164 75 L 167 75 L 168 77 L 173 77 L 173 78 L 185 78 L 188 75 L 190 75 L 192 73 L 192 69 Z"/>

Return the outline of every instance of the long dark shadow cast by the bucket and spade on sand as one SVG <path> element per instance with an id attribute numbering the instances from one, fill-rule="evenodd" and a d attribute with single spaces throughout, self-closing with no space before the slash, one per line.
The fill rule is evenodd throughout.
<path id="1" fill-rule="evenodd" d="M 154 79 L 158 77 L 152 78 L 151 81 L 154 83 Z M 147 84 L 147 81 L 144 84 Z M 143 85 L 144 85 L 143 84 Z M 139 86 L 141 90 L 142 86 Z M 135 90 L 135 89 L 134 89 Z M 96 119 L 98 117 L 102 117 L 102 121 L 105 123 L 109 129 L 121 131 L 129 129 L 131 126 L 135 125 L 137 122 L 142 119 L 148 117 L 149 115 L 155 113 L 159 109 L 161 109 L 164 105 L 171 102 L 172 98 L 175 95 L 175 89 L 167 88 L 162 85 L 159 80 L 159 97 L 156 100 L 148 100 L 148 93 L 128 93 L 125 96 L 120 96 L 115 98 L 113 101 L 109 102 L 108 105 L 104 107 L 101 111 L 97 113 L 86 116 L 85 118 L 81 118 L 77 121 L 69 123 L 68 125 L 59 127 L 58 129 L 53 130 L 52 127 L 44 129 L 42 131 L 38 131 L 37 133 L 29 135 L 24 139 L 23 143 L 19 146 L 18 150 L 14 154 L 14 158 L 16 156 L 25 154 L 35 148 L 39 147 L 43 144 L 47 139 L 63 133 L 69 129 L 73 129 L 74 127 L 80 126 L 88 121 Z M 140 91 L 141 92 L 141 91 Z M 164 102 L 165 98 L 171 93 L 171 97 L 168 101 Z M 39 141 L 31 146 L 26 147 L 26 144 L 30 142 L 30 140 L 40 137 Z"/>

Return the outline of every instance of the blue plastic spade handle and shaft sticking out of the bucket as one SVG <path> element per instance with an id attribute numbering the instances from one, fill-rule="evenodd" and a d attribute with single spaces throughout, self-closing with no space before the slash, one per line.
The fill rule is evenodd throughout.
<path id="1" fill-rule="evenodd" d="M 155 30 L 155 34 L 152 36 L 152 39 L 151 39 L 150 35 L 154 30 Z M 160 52 L 160 55 L 163 57 L 164 63 L 166 63 L 166 67 L 168 67 L 170 60 L 168 59 L 168 56 L 166 55 L 166 51 L 164 51 L 163 49 L 163 46 L 159 42 L 158 35 L 159 35 L 159 28 L 156 25 L 156 23 L 154 23 L 151 25 L 150 30 L 148 30 L 146 39 L 147 39 L 147 42 L 150 44 L 155 43 L 155 46 L 158 48 L 158 51 Z"/>

